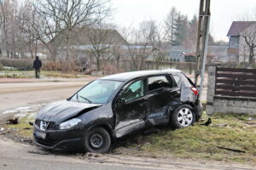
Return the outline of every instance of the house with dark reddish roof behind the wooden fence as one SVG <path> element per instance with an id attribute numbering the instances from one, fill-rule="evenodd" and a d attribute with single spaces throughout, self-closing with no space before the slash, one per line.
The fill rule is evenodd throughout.
<path id="1" fill-rule="evenodd" d="M 242 62 L 247 60 L 245 59 L 247 52 L 243 34 L 247 29 L 253 29 L 255 26 L 256 21 L 233 21 L 227 34 L 227 37 L 230 38 L 227 51 L 229 61 Z"/>

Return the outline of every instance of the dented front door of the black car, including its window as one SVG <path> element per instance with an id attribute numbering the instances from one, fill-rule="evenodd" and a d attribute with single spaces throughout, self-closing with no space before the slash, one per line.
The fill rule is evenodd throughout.
<path id="1" fill-rule="evenodd" d="M 145 127 L 144 120 L 148 111 L 146 82 L 146 79 L 141 79 L 128 83 L 114 102 L 114 133 L 117 138 Z"/>

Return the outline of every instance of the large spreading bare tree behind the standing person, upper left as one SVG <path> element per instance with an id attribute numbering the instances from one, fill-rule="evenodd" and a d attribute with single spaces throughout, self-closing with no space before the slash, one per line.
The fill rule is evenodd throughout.
<path id="1" fill-rule="evenodd" d="M 71 34 L 76 27 L 84 28 L 110 14 L 110 0 L 42 0 L 33 2 L 39 22 L 34 26 L 38 39 L 45 45 L 62 37 L 66 43 L 66 61 L 70 61 Z M 76 29 L 77 31 L 77 29 Z M 57 48 L 57 47 L 55 47 Z M 68 69 L 68 65 L 67 65 Z"/>

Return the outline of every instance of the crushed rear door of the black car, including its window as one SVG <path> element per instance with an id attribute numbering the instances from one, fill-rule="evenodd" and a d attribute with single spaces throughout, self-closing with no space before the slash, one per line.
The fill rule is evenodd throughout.
<path id="1" fill-rule="evenodd" d="M 172 77 L 148 77 L 148 124 L 155 126 L 169 122 L 169 106 L 178 95 L 177 85 Z"/>

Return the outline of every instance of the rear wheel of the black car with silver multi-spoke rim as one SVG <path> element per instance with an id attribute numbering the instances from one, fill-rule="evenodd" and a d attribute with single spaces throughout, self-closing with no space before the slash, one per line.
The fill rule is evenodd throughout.
<path id="1" fill-rule="evenodd" d="M 194 123 L 195 113 L 190 105 L 180 105 L 170 115 L 170 124 L 174 128 L 189 127 Z"/>

